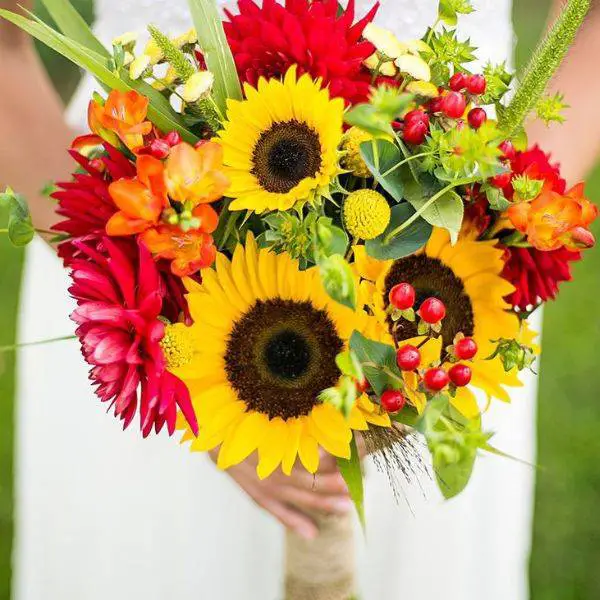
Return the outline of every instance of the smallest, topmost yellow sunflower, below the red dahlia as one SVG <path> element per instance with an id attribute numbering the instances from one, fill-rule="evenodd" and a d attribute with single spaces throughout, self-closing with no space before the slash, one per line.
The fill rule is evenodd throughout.
<path id="1" fill-rule="evenodd" d="M 232 210 L 288 210 L 325 191 L 340 172 L 344 101 L 331 99 L 320 80 L 296 76 L 244 86 L 245 100 L 229 100 L 219 133 L 231 180 Z"/>

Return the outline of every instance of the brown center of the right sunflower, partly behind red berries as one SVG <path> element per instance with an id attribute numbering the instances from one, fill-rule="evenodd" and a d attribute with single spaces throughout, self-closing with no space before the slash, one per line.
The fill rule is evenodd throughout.
<path id="1" fill-rule="evenodd" d="M 452 344 L 457 333 L 473 335 L 474 317 L 471 299 L 463 282 L 454 271 L 437 258 L 425 255 L 408 256 L 397 260 L 385 278 L 385 303 L 389 304 L 390 290 L 398 283 L 410 283 L 417 293 L 415 310 L 430 297 L 440 299 L 446 305 L 446 318 L 442 321 L 444 347 Z M 388 318 L 390 332 L 396 341 L 417 336 L 416 323 L 401 319 L 393 323 Z"/>

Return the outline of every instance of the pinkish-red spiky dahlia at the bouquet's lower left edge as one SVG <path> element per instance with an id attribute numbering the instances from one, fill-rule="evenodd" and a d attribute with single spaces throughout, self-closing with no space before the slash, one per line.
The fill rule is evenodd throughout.
<path id="1" fill-rule="evenodd" d="M 78 327 L 90 379 L 102 402 L 114 407 L 124 428 L 140 414 L 144 437 L 167 425 L 175 431 L 177 408 L 197 433 L 198 425 L 187 387 L 167 370 L 160 342 L 163 280 L 150 252 L 138 246 L 134 261 L 130 245 L 102 238 L 92 246 L 75 241 L 80 257 L 71 263 L 69 291 L 78 307 L 71 318 Z"/>

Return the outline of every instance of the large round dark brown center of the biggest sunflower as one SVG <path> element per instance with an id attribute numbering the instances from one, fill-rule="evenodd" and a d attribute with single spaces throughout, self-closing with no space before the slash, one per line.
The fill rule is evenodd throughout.
<path id="1" fill-rule="evenodd" d="M 310 302 L 259 300 L 229 336 L 225 370 L 248 410 L 291 419 L 309 414 L 335 384 L 342 349 L 327 313 Z"/>

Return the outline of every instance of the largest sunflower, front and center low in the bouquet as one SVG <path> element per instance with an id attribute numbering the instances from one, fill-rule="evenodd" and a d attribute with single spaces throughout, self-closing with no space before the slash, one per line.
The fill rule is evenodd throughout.
<path id="1" fill-rule="evenodd" d="M 249 235 L 231 262 L 218 255 L 216 270 L 202 276 L 202 284 L 188 282 L 194 356 L 173 370 L 198 417 L 198 437 L 184 435 L 192 450 L 220 445 L 221 468 L 258 450 L 260 477 L 279 465 L 289 474 L 298 456 L 314 473 L 319 446 L 348 458 L 352 429 L 390 425 L 366 396 L 349 419 L 318 400 L 339 378 L 336 355 L 370 317 L 333 302 L 317 269 L 300 271 L 287 254 L 259 251 Z"/>

